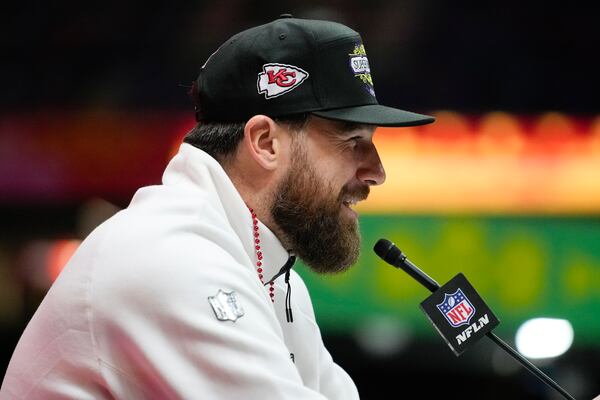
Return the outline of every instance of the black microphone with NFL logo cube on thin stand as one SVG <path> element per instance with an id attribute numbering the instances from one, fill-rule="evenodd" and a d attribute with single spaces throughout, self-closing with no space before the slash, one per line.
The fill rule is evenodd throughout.
<path id="1" fill-rule="evenodd" d="M 495 318 L 495 316 L 487 307 L 487 305 L 485 305 L 483 300 L 479 297 L 479 295 L 471 286 L 471 284 L 466 280 L 464 275 L 458 274 L 444 286 L 440 286 L 435 280 L 429 277 L 425 272 L 421 271 L 415 264 L 410 262 L 406 258 L 406 255 L 402 253 L 402 251 L 389 240 L 379 239 L 375 244 L 373 251 L 375 251 L 375 254 L 377 254 L 385 262 L 403 270 L 414 280 L 419 282 L 421 285 L 423 285 L 425 288 L 427 288 L 430 292 L 433 293 L 430 297 L 428 297 L 425 301 L 421 303 L 421 307 L 427 315 L 427 317 L 433 323 L 434 327 L 442 335 L 444 340 L 446 340 L 452 351 L 454 351 L 454 353 L 457 356 L 460 355 L 461 351 L 464 351 L 464 348 L 462 350 L 460 348 L 468 345 L 468 343 L 466 345 L 464 343 L 466 340 L 468 340 L 467 338 L 472 337 L 473 340 L 471 340 L 471 343 L 474 343 L 480 338 L 480 336 L 485 335 L 498 346 L 500 346 L 502 350 L 506 351 L 519 364 L 525 367 L 525 369 L 531 372 L 536 378 L 540 379 L 543 383 L 555 389 L 564 398 L 569 400 L 575 400 L 575 398 L 571 396 L 565 389 L 563 389 L 558 383 L 553 381 L 548 375 L 542 372 L 538 367 L 533 365 L 529 360 L 523 357 L 519 352 L 514 350 L 512 347 L 510 347 L 507 343 L 505 343 L 502 339 L 500 339 L 492 332 L 492 329 L 496 325 L 498 325 L 499 321 Z M 448 291 L 452 292 L 452 290 L 454 289 L 456 289 L 454 293 L 446 293 Z M 469 300 L 469 298 L 471 300 Z M 435 304 L 437 303 L 437 301 L 440 301 L 442 299 L 442 303 Z M 484 312 L 487 311 L 487 313 L 485 313 L 482 318 L 479 318 L 478 322 L 475 322 L 472 325 L 468 326 L 467 329 L 465 329 L 462 333 L 456 336 L 458 345 L 455 343 L 451 343 L 450 337 L 453 336 L 453 334 L 449 332 L 455 330 L 453 329 L 453 327 L 456 328 L 460 325 L 469 324 L 471 317 L 475 315 L 476 307 L 473 304 L 477 305 L 477 309 L 480 309 L 480 312 L 481 309 L 483 309 Z M 435 312 L 436 307 L 440 311 L 437 314 Z M 451 311 L 448 312 L 448 310 L 450 309 Z M 488 313 L 490 314 L 489 316 Z M 443 316 L 440 317 L 438 314 Z M 444 320 L 444 317 L 447 321 Z M 489 322 L 490 319 L 492 320 L 491 323 Z M 444 324 L 444 322 L 449 322 L 450 327 L 446 326 L 448 324 Z M 479 335 L 472 333 L 478 331 Z"/>

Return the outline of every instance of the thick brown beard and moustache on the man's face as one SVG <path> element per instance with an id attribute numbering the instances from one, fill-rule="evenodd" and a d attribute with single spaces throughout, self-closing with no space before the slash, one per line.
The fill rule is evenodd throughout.
<path id="1" fill-rule="evenodd" d="M 310 165 L 304 149 L 297 148 L 294 154 L 271 205 L 278 236 L 313 271 L 345 271 L 358 259 L 360 232 L 355 218 L 342 215 L 342 200 L 365 199 L 369 186 L 347 184 L 335 194 Z"/>

